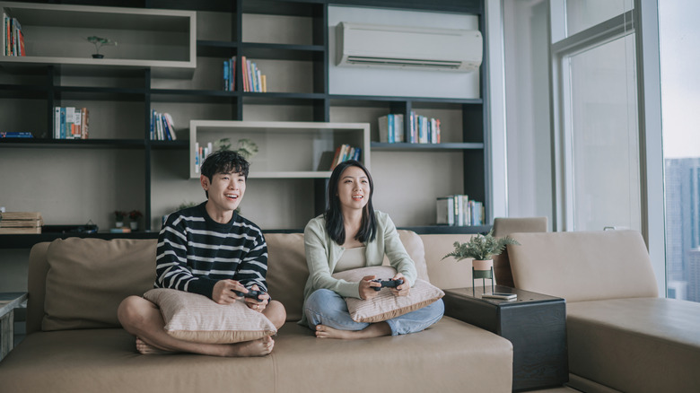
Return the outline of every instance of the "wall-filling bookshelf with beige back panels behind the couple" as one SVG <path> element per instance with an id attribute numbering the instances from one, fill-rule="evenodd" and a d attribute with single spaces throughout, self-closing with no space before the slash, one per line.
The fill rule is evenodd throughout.
<path id="1" fill-rule="evenodd" d="M 162 214 L 169 213 L 183 200 L 202 200 L 203 193 L 190 168 L 190 155 L 192 143 L 206 133 L 231 133 L 235 144 L 239 136 L 261 132 L 266 135 L 265 144 L 270 148 L 273 144 L 283 144 L 284 135 L 293 134 L 294 141 L 302 141 L 295 148 L 304 153 L 298 155 L 316 157 L 318 152 L 313 150 L 313 141 L 315 135 L 323 131 L 314 127 L 335 135 L 338 134 L 334 128 L 339 127 L 337 125 L 353 129 L 348 131 L 354 133 L 348 136 L 351 144 L 362 144 L 366 159 L 372 157 L 372 176 L 379 187 L 384 186 L 375 194 L 380 198 L 379 201 L 375 198 L 375 205 L 385 211 L 394 208 L 415 212 L 411 216 L 397 216 L 398 226 L 429 231 L 434 224 L 437 196 L 463 193 L 488 205 L 485 163 L 488 92 L 484 66 L 479 71 L 480 97 L 475 99 L 331 94 L 328 68 L 329 57 L 333 58 L 334 54 L 328 49 L 327 1 L 152 0 L 143 8 L 101 6 L 118 5 L 118 2 L 97 0 L 81 3 L 87 5 L 0 2 L 0 7 L 9 9 L 13 17 L 22 22 L 25 32 L 33 29 L 37 34 L 55 33 L 57 39 L 62 37 L 64 44 L 72 42 L 66 38 L 72 33 L 77 37 L 85 33 L 104 35 L 118 41 L 121 39 L 118 37 L 125 37 L 118 47 L 104 48 L 105 58 L 102 59 L 92 59 L 92 44 L 80 39 L 73 48 L 62 49 L 60 53 L 32 44 L 26 57 L 0 56 L 0 115 L 4 118 L 4 125 L 0 127 L 2 131 L 29 131 L 34 135 L 31 140 L 0 139 L 0 164 L 27 167 L 24 173 L 31 178 L 66 182 L 60 195 L 38 196 L 31 202 L 32 208 L 24 208 L 41 211 L 47 223 L 92 220 L 104 231 L 111 225 L 109 212 L 138 209 L 144 212 L 142 227 L 157 231 Z M 353 0 L 333 4 L 476 15 L 482 35 L 486 37 L 483 0 L 407 0 L 400 5 L 381 0 Z M 48 14 L 60 16 L 52 21 L 47 19 Z M 85 15 L 91 16 L 86 18 Z M 96 25 L 89 22 L 91 18 L 93 21 L 113 18 L 119 23 Z M 68 20 L 77 22 L 67 23 Z M 144 55 L 136 48 L 129 48 L 135 35 L 152 35 L 144 41 L 153 42 L 149 45 L 155 50 Z M 164 41 L 165 36 L 172 38 Z M 37 42 L 42 40 L 41 35 L 35 37 L 38 37 Z M 172 50 L 161 50 L 161 47 Z M 235 75 L 236 89 L 223 91 L 222 62 L 232 56 L 257 61 L 268 74 L 268 92 L 243 92 L 240 73 Z M 56 106 L 90 109 L 90 139 L 52 139 L 53 108 Z M 178 136 L 176 141 L 150 140 L 152 110 L 171 113 Z M 406 114 L 411 110 L 445 119 L 443 125 L 450 130 L 443 134 L 442 144 L 377 142 L 377 118 L 389 113 Z M 22 118 L 13 113 L 22 113 Z M 211 121 L 210 124 L 216 126 L 197 123 L 200 120 Z M 273 125 L 253 129 L 250 125 L 254 123 Z M 290 126 L 298 123 L 314 126 Z M 369 124 L 369 127 L 358 127 L 358 123 Z M 316 144 L 324 143 L 345 142 L 337 139 Z M 258 145 L 262 147 L 263 142 Z M 246 200 L 251 205 L 244 206 L 244 210 L 264 229 L 301 229 L 325 204 L 322 189 L 329 172 L 313 167 L 317 158 L 295 164 L 292 170 L 280 168 L 279 162 L 288 158 L 281 154 L 277 154 L 277 166 L 265 170 L 262 170 L 263 162 L 257 162 L 264 155 L 253 158 L 250 199 Z M 51 158 L 53 155 L 59 162 Z M 85 168 L 80 170 L 84 173 L 74 175 L 62 168 L 60 162 L 94 168 Z M 441 183 L 435 185 L 433 179 L 429 179 L 423 188 L 416 190 L 414 185 L 401 190 L 416 181 L 416 176 L 409 173 L 412 170 L 417 170 L 423 179 L 432 178 L 435 172 L 438 175 L 434 178 Z M 105 181 L 99 173 L 117 179 Z M 0 174 L 3 182 L 15 178 Z M 389 183 L 392 178 L 402 182 L 401 187 Z M 94 189 L 84 188 L 83 179 L 95 184 Z M 52 198 L 70 200 L 72 195 L 66 190 L 71 188 L 80 189 L 84 196 L 68 205 L 51 201 Z M 40 193 L 42 190 L 22 188 L 17 193 Z M 270 196 L 287 192 L 293 194 L 291 201 L 280 202 Z M 29 201 L 20 200 L 17 193 L 0 192 L 0 205 L 20 205 L 20 208 L 22 204 L 30 205 Z M 408 197 L 411 193 L 418 193 L 424 199 L 412 200 Z M 74 206 L 76 202 L 81 205 Z M 263 214 L 265 217 L 258 219 L 255 212 L 267 212 L 264 206 L 270 205 L 278 209 L 279 214 Z M 267 216 L 282 216 L 290 211 L 294 212 L 293 217 L 286 221 L 266 221 Z M 392 218 L 396 215 L 389 213 Z M 487 217 L 487 221 L 491 219 Z M 479 231 L 479 228 L 472 230 Z"/>

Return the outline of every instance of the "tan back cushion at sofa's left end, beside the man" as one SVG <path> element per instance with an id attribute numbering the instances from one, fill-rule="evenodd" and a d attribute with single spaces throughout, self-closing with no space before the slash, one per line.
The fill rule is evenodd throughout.
<path id="1" fill-rule="evenodd" d="M 153 288 L 155 247 L 156 240 L 53 240 L 42 330 L 121 327 L 119 303 Z"/>

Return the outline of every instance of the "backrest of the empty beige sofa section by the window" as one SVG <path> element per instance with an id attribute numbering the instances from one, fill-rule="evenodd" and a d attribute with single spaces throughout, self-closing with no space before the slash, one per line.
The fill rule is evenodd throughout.
<path id="1" fill-rule="evenodd" d="M 512 233 L 515 287 L 567 302 L 659 295 L 638 231 Z"/>

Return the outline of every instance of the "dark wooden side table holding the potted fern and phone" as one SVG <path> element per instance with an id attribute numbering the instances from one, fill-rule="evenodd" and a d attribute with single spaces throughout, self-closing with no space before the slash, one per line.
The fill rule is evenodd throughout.
<path id="1" fill-rule="evenodd" d="M 482 298 L 482 287 L 445 290 L 445 315 L 511 341 L 513 391 L 563 385 L 569 380 L 564 299 L 503 285 L 496 285 L 494 292 L 518 298 Z"/>

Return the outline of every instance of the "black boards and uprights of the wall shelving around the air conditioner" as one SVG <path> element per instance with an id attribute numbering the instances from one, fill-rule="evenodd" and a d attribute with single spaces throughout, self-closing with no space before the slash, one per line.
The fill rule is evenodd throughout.
<path id="1" fill-rule="evenodd" d="M 74 2 L 58 2 L 74 3 Z M 100 0 L 84 0 L 78 2 L 86 5 L 105 5 L 107 3 Z M 132 3 L 136 3 L 134 5 Z M 273 60 L 301 60 L 310 63 L 312 73 L 312 85 L 309 92 L 243 92 L 241 73 L 235 73 L 236 90 L 224 92 L 218 90 L 218 86 L 211 89 L 169 89 L 153 88 L 154 76 L 149 68 L 127 67 L 106 67 L 102 69 L 94 65 L 12 65 L 13 72 L 30 75 L 31 81 L 22 83 L 0 84 L 0 98 L 16 98 L 45 100 L 46 109 L 43 114 L 37 114 L 44 118 L 46 129 L 40 135 L 35 135 L 35 139 L 0 139 L 0 150 L 23 148 L 42 149 L 132 149 L 143 152 L 144 160 L 144 223 L 145 230 L 157 230 L 152 228 L 152 152 L 153 151 L 178 151 L 182 152 L 182 160 L 187 161 L 188 141 L 152 141 L 150 140 L 150 116 L 154 103 L 167 104 L 169 102 L 178 103 L 203 103 L 203 104 L 224 104 L 231 106 L 232 116 L 229 120 L 244 120 L 243 108 L 246 105 L 299 105 L 311 109 L 310 118 L 306 121 L 328 122 L 330 120 L 331 108 L 334 106 L 361 106 L 367 108 L 386 108 L 386 113 L 399 113 L 407 115 L 415 109 L 458 109 L 462 118 L 462 141 L 444 144 L 383 144 L 372 142 L 372 151 L 376 152 L 459 152 L 462 154 L 464 166 L 463 191 L 470 197 L 484 201 L 490 201 L 490 196 L 486 190 L 486 130 L 488 128 L 486 114 L 488 102 L 488 90 L 485 83 L 485 69 L 487 67 L 487 57 L 480 68 L 480 99 L 434 99 L 424 97 L 378 97 L 378 96 L 354 96 L 354 95 L 333 95 L 328 92 L 328 4 L 329 0 L 307 0 L 307 1 L 272 1 L 272 0 L 235 0 L 231 2 L 202 2 L 194 0 L 145 0 L 144 2 L 132 2 L 129 6 L 144 8 L 160 8 L 168 10 L 191 10 L 206 11 L 214 13 L 228 13 L 231 16 L 231 31 L 223 31 L 223 39 L 197 39 L 197 57 L 205 58 L 228 58 L 235 56 L 240 59 L 242 56 L 248 58 L 273 59 Z M 467 13 L 477 15 L 479 19 L 479 30 L 486 40 L 484 29 L 484 3 L 483 0 L 435 0 L 424 2 L 418 0 L 406 1 L 382 1 L 382 0 L 339 0 L 332 4 L 346 4 L 352 6 L 372 6 L 389 9 L 426 11 L 426 12 L 451 12 Z M 119 5 L 119 4 L 109 4 Z M 302 16 L 311 21 L 311 43 L 300 44 L 275 44 L 246 42 L 243 36 L 242 25 L 245 14 L 262 13 L 283 16 Z M 230 38 L 230 39 L 228 39 Z M 0 57 L 0 63 L 3 59 Z M 0 64 L 4 65 L 4 64 Z M 238 65 L 240 67 L 240 65 Z M 18 68 L 21 68 L 18 71 Z M 10 69 L 8 67 L 7 69 Z M 219 72 L 216 69 L 215 72 Z M 0 67 L 0 73 L 4 72 Z M 70 74 L 98 74 L 116 75 L 116 77 L 127 76 L 125 80 L 130 81 L 130 85 L 124 87 L 101 87 L 101 86 L 68 86 L 61 83 L 62 76 Z M 53 129 L 53 108 L 62 106 L 65 100 L 118 100 L 135 102 L 143 105 L 143 129 L 138 135 L 129 134 L 127 137 L 111 139 L 87 139 L 87 140 L 54 140 L 51 139 Z M 133 115 L 132 115 L 133 116 Z M 405 127 L 408 127 L 405 122 Z M 8 130 L 9 131 L 9 130 Z M 141 135 L 141 137 L 139 137 Z M 184 136 L 184 135 L 183 135 Z M 319 189 L 325 188 L 324 179 L 314 180 L 317 192 L 315 193 L 315 211 L 322 211 L 325 201 L 323 193 Z M 110 210 L 109 206 L 105 210 Z M 492 217 L 486 217 L 487 222 Z M 442 231 L 440 227 L 433 228 L 435 231 Z M 425 231 L 423 229 L 422 231 Z M 107 235 L 107 234 L 105 234 Z M 10 240 L 7 236 L 0 235 L 0 240 L 6 243 Z M 31 235 L 37 236 L 37 235 Z M 123 235 L 121 235 L 123 236 Z M 134 235 L 132 235 L 134 236 Z M 14 238 L 12 238 L 14 239 Z M 43 239 L 43 238 L 36 238 Z"/>

